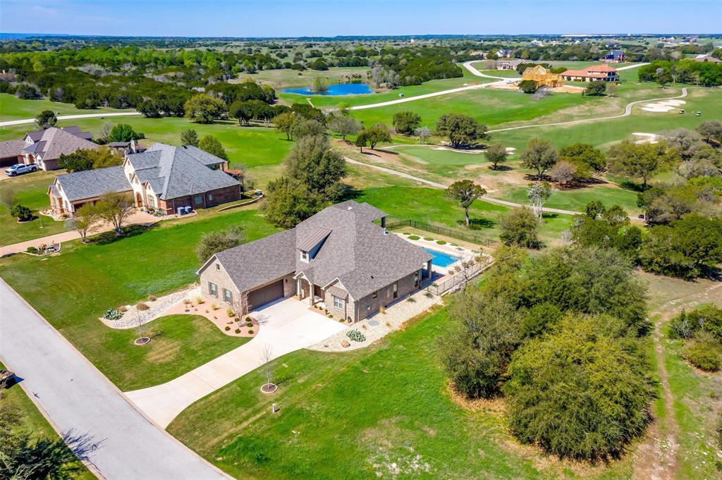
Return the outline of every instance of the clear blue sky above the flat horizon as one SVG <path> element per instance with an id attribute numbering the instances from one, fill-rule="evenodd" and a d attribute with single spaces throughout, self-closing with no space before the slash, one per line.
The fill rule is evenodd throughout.
<path id="1" fill-rule="evenodd" d="M 1 0 L 0 31 L 295 37 L 720 33 L 720 0 Z"/>

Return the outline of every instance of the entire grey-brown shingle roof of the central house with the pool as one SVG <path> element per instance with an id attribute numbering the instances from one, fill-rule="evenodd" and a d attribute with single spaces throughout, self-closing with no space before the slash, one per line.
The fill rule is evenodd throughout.
<path id="1" fill-rule="evenodd" d="M 285 274 L 304 274 L 325 287 L 339 279 L 359 300 L 412 274 L 431 260 L 422 248 L 387 234 L 373 220 L 386 214 L 369 204 L 345 201 L 329 206 L 295 228 L 216 254 L 238 289 L 256 287 Z M 300 247 L 323 242 L 308 263 L 300 260 Z M 313 247 L 311 245 L 311 247 Z"/>

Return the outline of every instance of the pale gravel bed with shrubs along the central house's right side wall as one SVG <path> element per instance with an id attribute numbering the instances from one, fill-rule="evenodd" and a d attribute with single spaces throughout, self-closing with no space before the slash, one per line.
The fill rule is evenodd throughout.
<path id="1" fill-rule="evenodd" d="M 347 352 L 361 349 L 401 327 L 407 320 L 429 310 L 433 305 L 441 303 L 441 297 L 421 290 L 394 303 L 386 309 L 386 313 L 376 313 L 369 318 L 365 318 L 330 336 L 328 339 L 309 346 L 308 349 L 317 350 L 318 352 Z M 360 331 L 365 340 L 353 341 L 349 339 L 348 333 L 352 330 Z"/>

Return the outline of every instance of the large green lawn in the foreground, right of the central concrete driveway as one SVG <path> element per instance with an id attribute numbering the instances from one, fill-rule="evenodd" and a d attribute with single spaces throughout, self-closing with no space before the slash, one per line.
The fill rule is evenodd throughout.
<path id="1" fill-rule="evenodd" d="M 168 431 L 243 479 L 627 477 L 631 455 L 609 467 L 545 458 L 516 445 L 493 403 L 458 406 L 438 361 L 447 328 L 441 310 L 367 349 L 287 354 L 273 363 L 279 393 L 261 394 L 255 370 L 194 403 Z"/>

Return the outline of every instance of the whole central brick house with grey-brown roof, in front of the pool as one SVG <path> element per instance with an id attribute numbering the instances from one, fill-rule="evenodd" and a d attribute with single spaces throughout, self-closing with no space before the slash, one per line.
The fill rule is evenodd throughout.
<path id="1" fill-rule="evenodd" d="M 424 271 L 431 274 L 432 256 L 385 224 L 386 214 L 368 204 L 329 206 L 295 228 L 216 253 L 198 271 L 201 291 L 243 315 L 295 295 L 357 322 L 421 289 Z"/>

